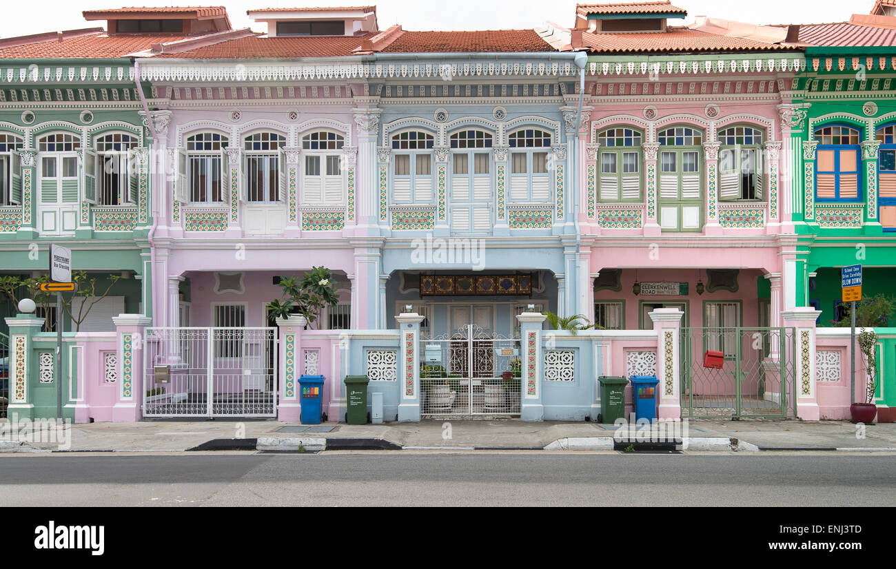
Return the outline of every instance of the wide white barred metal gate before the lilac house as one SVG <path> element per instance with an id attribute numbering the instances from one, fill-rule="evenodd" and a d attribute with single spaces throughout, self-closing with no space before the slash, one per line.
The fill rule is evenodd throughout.
<path id="1" fill-rule="evenodd" d="M 143 417 L 276 417 L 276 328 L 148 328 Z"/>

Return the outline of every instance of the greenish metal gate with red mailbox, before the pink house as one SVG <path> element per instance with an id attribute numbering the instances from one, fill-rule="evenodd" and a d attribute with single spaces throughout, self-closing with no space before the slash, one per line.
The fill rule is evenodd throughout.
<path id="1" fill-rule="evenodd" d="M 796 329 L 682 328 L 684 418 L 797 416 Z M 704 366 L 722 352 L 720 368 Z"/>

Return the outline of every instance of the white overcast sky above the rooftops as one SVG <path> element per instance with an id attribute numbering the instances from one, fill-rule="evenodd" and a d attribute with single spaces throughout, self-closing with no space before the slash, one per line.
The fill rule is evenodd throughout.
<path id="1" fill-rule="evenodd" d="M 72 30 L 105 22 L 84 22 L 82 10 L 133 5 L 213 5 L 220 0 L 2 0 L 0 37 Z M 225 2 L 235 28 L 252 26 L 246 10 L 257 8 L 364 4 L 360 0 L 253 0 Z M 533 28 L 543 22 L 573 24 L 575 0 L 370 0 L 377 5 L 380 27 L 401 23 L 405 30 L 500 30 Z M 594 2 L 594 4 L 597 4 Z M 851 13 L 869 13 L 874 0 L 676 0 L 694 16 L 709 15 L 752 23 L 844 22 Z M 673 24 L 681 20 L 672 21 Z M 255 30 L 263 26 L 254 25 Z"/>

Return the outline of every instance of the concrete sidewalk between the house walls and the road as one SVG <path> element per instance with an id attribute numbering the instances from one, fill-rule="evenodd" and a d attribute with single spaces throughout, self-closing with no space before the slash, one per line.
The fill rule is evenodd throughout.
<path id="1" fill-rule="evenodd" d="M 642 435 L 644 433 L 642 432 Z M 518 419 L 435 421 L 308 427 L 277 421 L 142 421 L 72 427 L 70 451 L 182 452 L 190 449 L 306 450 L 384 448 L 404 450 L 613 450 L 616 427 L 594 423 L 524 423 Z M 635 433 L 630 433 L 635 435 Z M 4 435 L 8 440 L 9 435 Z M 616 450 L 620 449 L 618 436 Z M 216 443 L 217 442 L 217 443 Z M 626 441 L 627 443 L 628 441 Z M 218 444 L 216 447 L 215 444 Z M 29 442 L 42 450 L 54 443 Z M 638 446 L 641 450 L 642 447 Z M 679 446 L 681 448 L 681 446 Z M 691 420 L 682 450 L 865 450 L 896 452 L 896 424 L 860 427 L 848 422 L 798 420 Z M 22 452 L 0 444 L 0 452 Z"/>

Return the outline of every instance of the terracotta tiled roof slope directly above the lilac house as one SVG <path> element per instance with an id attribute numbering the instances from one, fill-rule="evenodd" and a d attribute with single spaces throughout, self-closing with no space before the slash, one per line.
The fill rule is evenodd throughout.
<path id="1" fill-rule="evenodd" d="M 177 54 L 162 54 L 158 57 L 183 59 L 263 59 L 289 57 L 335 57 L 350 56 L 361 45 L 363 39 L 374 34 L 358 37 L 342 36 L 290 36 L 282 38 L 240 38 L 222 41 L 219 44 L 197 47 Z"/>

